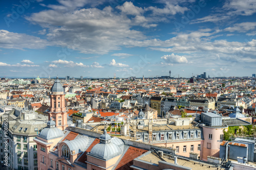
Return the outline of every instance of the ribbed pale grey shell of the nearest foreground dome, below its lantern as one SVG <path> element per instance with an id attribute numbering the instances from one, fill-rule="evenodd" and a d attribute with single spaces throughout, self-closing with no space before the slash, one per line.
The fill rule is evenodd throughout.
<path id="1" fill-rule="evenodd" d="M 98 143 L 90 152 L 90 155 L 105 160 L 109 160 L 120 154 L 122 154 L 122 151 L 115 143 Z"/>

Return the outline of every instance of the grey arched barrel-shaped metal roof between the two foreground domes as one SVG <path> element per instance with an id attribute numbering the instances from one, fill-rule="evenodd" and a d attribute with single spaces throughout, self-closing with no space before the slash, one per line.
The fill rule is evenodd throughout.
<path id="1" fill-rule="evenodd" d="M 70 151 L 75 150 L 75 154 L 83 152 L 87 149 L 87 145 L 89 143 L 89 138 L 87 136 L 74 139 L 71 141 L 63 141 L 69 147 Z M 72 152 L 71 152 L 72 153 Z M 72 154 L 72 155 L 75 155 Z"/>

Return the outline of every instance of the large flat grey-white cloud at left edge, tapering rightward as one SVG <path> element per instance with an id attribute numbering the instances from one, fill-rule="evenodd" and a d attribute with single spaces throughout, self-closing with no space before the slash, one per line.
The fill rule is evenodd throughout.
<path id="1" fill-rule="evenodd" d="M 24 50 L 24 48 L 45 48 L 47 45 L 51 45 L 50 42 L 39 37 L 6 30 L 0 30 L 0 44 L 2 48 L 15 48 L 19 50 Z"/>

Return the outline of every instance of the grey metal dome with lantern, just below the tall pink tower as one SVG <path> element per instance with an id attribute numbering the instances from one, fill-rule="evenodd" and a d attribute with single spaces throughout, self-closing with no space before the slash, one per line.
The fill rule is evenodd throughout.
<path id="1" fill-rule="evenodd" d="M 38 136 L 47 140 L 63 137 L 63 132 L 56 128 L 55 125 L 56 124 L 51 117 L 47 123 L 47 128 L 43 129 Z"/>

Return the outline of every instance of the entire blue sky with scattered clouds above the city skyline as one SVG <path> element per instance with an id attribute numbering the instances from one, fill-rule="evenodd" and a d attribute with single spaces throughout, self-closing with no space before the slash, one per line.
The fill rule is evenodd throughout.
<path id="1" fill-rule="evenodd" d="M 21 0 L 0 8 L 0 77 L 256 73 L 254 0 Z"/>

